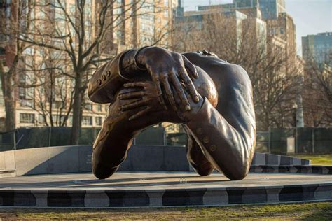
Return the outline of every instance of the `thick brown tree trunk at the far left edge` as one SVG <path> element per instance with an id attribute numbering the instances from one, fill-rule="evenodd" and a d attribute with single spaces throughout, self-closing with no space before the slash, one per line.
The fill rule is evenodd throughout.
<path id="1" fill-rule="evenodd" d="M 10 73 L 5 73 L 4 66 L 0 62 L 0 73 L 1 73 L 1 89 L 4 94 L 4 103 L 5 103 L 5 129 L 6 131 L 11 131 L 15 129 L 15 101 L 13 97 L 13 86 L 12 78 Z"/>

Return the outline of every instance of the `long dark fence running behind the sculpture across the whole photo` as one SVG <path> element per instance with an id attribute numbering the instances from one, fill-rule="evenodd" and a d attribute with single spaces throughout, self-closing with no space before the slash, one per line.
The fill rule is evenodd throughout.
<path id="1" fill-rule="evenodd" d="M 91 145 L 100 128 L 83 128 L 80 145 Z M 0 134 L 0 151 L 70 145 L 70 127 L 19 128 Z M 186 146 L 184 133 L 167 133 L 163 127 L 150 127 L 134 138 L 135 145 Z M 332 128 L 280 128 L 258 131 L 256 152 L 273 154 L 331 153 Z"/>

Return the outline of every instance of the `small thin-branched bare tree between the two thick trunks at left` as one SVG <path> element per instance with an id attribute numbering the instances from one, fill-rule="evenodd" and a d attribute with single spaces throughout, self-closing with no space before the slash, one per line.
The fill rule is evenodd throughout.
<path id="1" fill-rule="evenodd" d="M 29 94 L 32 102 L 29 108 L 39 113 L 38 124 L 48 127 L 64 127 L 67 125 L 73 104 L 74 87 L 67 77 L 70 73 L 69 62 L 61 54 L 50 48 L 38 48 L 43 57 L 39 57 L 36 69 L 30 70 L 38 74 L 43 83 Z"/>

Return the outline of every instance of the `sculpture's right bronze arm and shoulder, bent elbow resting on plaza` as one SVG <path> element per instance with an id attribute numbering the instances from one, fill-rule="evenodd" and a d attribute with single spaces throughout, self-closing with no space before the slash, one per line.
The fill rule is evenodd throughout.
<path id="1" fill-rule="evenodd" d="M 240 180 L 247 176 L 256 143 L 251 82 L 240 66 L 218 61 L 208 66 L 205 70 L 219 92 L 218 105 L 205 99 L 186 127 L 216 169 Z"/>

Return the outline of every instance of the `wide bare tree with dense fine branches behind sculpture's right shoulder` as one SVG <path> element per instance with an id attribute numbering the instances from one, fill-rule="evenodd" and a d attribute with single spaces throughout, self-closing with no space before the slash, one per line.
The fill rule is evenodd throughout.
<path id="1" fill-rule="evenodd" d="M 199 17 L 200 16 L 200 17 Z M 209 50 L 219 58 L 242 66 L 254 89 L 257 127 L 293 126 L 293 104 L 300 90 L 296 55 L 286 56 L 255 19 L 237 20 L 231 13 L 188 17 L 174 31 L 180 52 Z"/>

